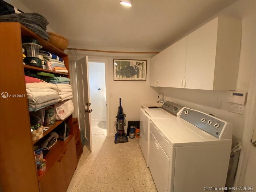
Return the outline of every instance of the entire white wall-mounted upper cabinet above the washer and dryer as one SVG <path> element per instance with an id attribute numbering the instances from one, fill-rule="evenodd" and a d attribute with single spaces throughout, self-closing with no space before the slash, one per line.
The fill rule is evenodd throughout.
<path id="1" fill-rule="evenodd" d="M 237 19 L 217 17 L 163 50 L 152 58 L 158 70 L 151 71 L 150 86 L 235 90 L 241 27 Z"/>

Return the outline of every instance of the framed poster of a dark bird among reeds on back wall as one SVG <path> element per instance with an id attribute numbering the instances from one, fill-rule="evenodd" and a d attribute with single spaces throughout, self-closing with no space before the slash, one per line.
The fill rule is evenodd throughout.
<path id="1" fill-rule="evenodd" d="M 147 60 L 114 59 L 114 81 L 146 81 Z"/>

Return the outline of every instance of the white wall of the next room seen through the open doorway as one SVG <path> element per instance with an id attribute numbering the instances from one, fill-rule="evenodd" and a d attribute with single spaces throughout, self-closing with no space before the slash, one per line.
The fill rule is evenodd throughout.
<path id="1" fill-rule="evenodd" d="M 91 121 L 106 121 L 105 63 L 89 62 Z M 101 90 L 98 90 L 98 89 Z"/>

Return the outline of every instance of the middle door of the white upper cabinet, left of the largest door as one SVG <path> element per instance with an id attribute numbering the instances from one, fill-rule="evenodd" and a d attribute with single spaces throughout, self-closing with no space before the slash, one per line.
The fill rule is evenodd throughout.
<path id="1" fill-rule="evenodd" d="M 183 87 L 186 65 L 187 37 L 182 38 L 161 52 L 159 86 Z"/>

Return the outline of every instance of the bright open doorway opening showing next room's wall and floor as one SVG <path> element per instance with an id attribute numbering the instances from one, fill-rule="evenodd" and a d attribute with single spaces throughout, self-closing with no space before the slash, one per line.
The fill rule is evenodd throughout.
<path id="1" fill-rule="evenodd" d="M 106 77 L 104 62 L 89 62 L 89 86 L 91 98 L 91 134 L 107 136 Z"/>

